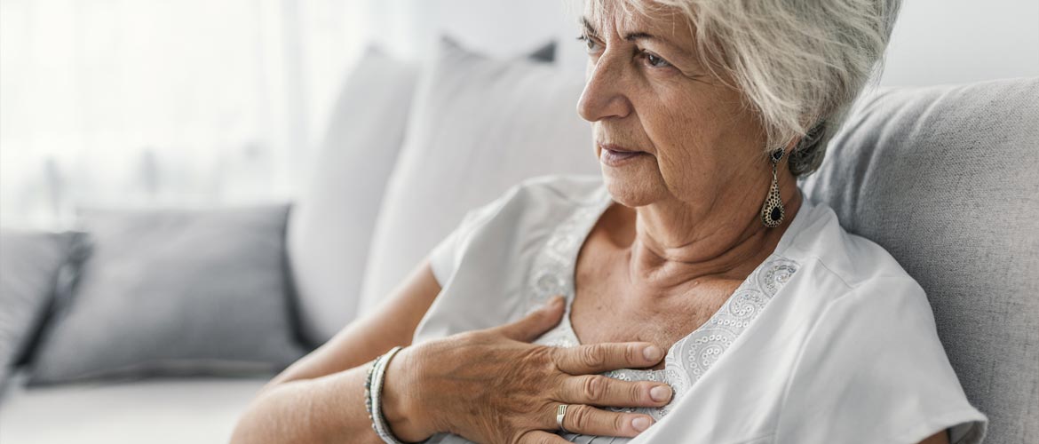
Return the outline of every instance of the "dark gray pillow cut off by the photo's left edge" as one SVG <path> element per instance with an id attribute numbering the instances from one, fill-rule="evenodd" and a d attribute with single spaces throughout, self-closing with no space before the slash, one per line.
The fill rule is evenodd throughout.
<path id="1" fill-rule="evenodd" d="M 71 235 L 0 231 L 0 391 L 51 304 Z"/>

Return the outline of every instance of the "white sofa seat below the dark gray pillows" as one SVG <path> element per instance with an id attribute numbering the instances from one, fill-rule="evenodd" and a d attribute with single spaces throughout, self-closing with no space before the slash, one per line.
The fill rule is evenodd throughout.
<path id="1" fill-rule="evenodd" d="M 271 375 L 156 378 L 25 387 L 11 377 L 0 402 L 0 443 L 228 443 Z"/>

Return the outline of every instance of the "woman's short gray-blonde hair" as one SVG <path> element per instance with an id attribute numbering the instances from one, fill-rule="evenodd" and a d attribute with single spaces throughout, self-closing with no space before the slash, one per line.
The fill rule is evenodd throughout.
<path id="1" fill-rule="evenodd" d="M 606 3 L 591 2 L 601 15 Z M 848 109 L 883 66 L 901 0 L 619 0 L 625 14 L 680 12 L 715 77 L 734 79 L 764 124 L 764 152 L 799 140 L 795 177 L 816 171 Z M 590 18 L 597 21 L 597 18 Z M 717 68 L 716 68 L 717 67 Z"/>

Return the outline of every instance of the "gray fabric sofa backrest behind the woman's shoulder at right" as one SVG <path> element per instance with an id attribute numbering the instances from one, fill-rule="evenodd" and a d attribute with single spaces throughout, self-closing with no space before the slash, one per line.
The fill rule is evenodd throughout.
<path id="1" fill-rule="evenodd" d="M 805 193 L 927 290 L 987 441 L 1039 442 L 1039 78 L 884 89 Z"/>

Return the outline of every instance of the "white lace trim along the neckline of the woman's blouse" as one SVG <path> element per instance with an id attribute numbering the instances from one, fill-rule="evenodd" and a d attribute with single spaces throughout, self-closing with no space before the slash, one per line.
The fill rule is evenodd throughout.
<path id="1" fill-rule="evenodd" d="M 579 207 L 563 220 L 549 236 L 544 246 L 534 259 L 527 284 L 525 312 L 536 310 L 557 294 L 562 294 L 566 298 L 563 320 L 534 341 L 537 344 L 557 347 L 581 345 L 569 320 L 570 305 L 575 294 L 574 268 L 585 238 L 612 202 L 605 188 L 600 190 L 602 200 L 593 205 Z M 625 368 L 603 373 L 623 381 L 664 382 L 674 391 L 674 396 L 667 406 L 607 409 L 614 412 L 647 414 L 657 420 L 663 418 L 682 395 L 711 369 L 740 334 L 750 325 L 772 296 L 797 272 L 798 266 L 797 262 L 781 256 L 769 256 L 707 322 L 671 345 L 664 360 L 664 369 Z"/>

